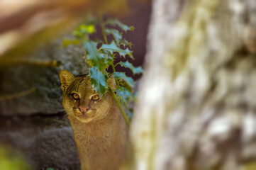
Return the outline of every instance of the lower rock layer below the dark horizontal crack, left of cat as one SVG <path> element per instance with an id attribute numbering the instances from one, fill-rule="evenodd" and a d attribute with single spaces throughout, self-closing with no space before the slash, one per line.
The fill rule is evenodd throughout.
<path id="1" fill-rule="evenodd" d="M 20 151 L 34 169 L 79 169 L 65 114 L 1 116 L 0 142 Z"/>

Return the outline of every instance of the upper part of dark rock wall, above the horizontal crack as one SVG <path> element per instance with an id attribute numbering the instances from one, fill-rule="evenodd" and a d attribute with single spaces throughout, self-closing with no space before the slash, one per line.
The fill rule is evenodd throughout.
<path id="1" fill-rule="evenodd" d="M 55 40 L 47 47 L 26 56 L 28 61 L 53 61 L 61 63 L 57 67 L 38 66 L 38 64 L 19 64 L 0 67 L 0 96 L 17 94 L 35 88 L 26 96 L 0 101 L 1 115 L 30 115 L 35 113 L 52 114 L 63 111 L 62 91 L 59 72 L 67 69 L 74 75 L 88 74 L 82 47 L 69 45 L 62 47 L 62 40 Z"/>

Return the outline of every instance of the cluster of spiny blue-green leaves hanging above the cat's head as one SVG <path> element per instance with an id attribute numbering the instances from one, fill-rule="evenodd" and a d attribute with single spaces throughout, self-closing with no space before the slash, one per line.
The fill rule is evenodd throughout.
<path id="1" fill-rule="evenodd" d="M 109 77 L 113 76 L 117 84 L 115 94 L 122 105 L 127 108 L 126 104 L 134 100 L 132 91 L 134 81 L 132 78 L 127 77 L 124 72 L 116 72 L 115 67 L 120 64 L 121 67 L 130 69 L 133 74 L 141 74 L 143 69 L 141 67 L 134 67 L 133 64 L 128 61 L 116 63 L 116 54 L 118 53 L 124 58 L 130 57 L 133 59 L 133 52 L 128 48 L 131 47 L 132 44 L 123 38 L 123 32 L 126 33 L 128 30 L 133 31 L 134 28 L 133 26 L 126 26 L 118 20 L 108 20 L 104 22 L 101 19 L 99 21 L 101 22 L 100 25 L 104 41 L 91 40 L 89 38 L 91 34 L 96 32 L 96 25 L 98 23 L 94 22 L 77 27 L 73 32 L 76 39 L 65 40 L 63 45 L 67 46 L 68 44 L 82 42 L 90 67 L 89 76 L 91 77 L 91 86 L 100 96 L 104 96 L 109 89 L 107 80 Z M 113 40 L 109 43 L 107 42 L 107 35 L 113 36 Z M 113 73 L 106 71 L 108 67 L 112 67 Z"/>

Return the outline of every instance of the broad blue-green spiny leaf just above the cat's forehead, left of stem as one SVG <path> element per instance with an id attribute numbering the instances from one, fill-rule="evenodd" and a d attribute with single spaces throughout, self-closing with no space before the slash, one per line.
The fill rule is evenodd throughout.
<path id="1" fill-rule="evenodd" d="M 97 49 L 97 43 L 93 41 L 84 42 L 84 49 L 87 51 L 90 67 L 97 67 L 100 71 L 106 69 L 106 57 Z"/>

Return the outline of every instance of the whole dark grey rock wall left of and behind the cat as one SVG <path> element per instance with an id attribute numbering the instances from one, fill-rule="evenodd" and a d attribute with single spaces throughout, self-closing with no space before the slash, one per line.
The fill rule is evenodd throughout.
<path id="1" fill-rule="evenodd" d="M 63 39 L 22 58 L 32 64 L 0 67 L 0 96 L 36 89 L 32 94 L 0 101 L 0 143 L 20 151 L 33 169 L 80 166 L 72 128 L 62 108 L 59 72 L 67 69 L 74 75 L 88 74 L 88 67 L 82 47 L 62 47 Z M 40 65 L 54 60 L 61 64 Z"/>

